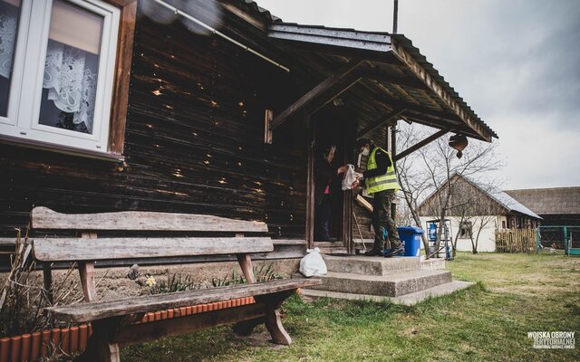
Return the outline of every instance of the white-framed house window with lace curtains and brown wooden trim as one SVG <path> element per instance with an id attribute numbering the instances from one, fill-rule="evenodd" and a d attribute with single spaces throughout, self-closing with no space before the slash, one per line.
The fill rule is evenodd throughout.
<path id="1" fill-rule="evenodd" d="M 122 122 L 124 129 L 124 117 L 113 119 L 118 115 L 111 112 L 111 100 L 115 95 L 116 101 L 127 101 L 126 95 L 117 97 L 115 83 L 123 80 L 115 80 L 115 72 L 128 62 L 116 62 L 117 42 L 132 47 L 132 28 L 127 42 L 120 36 L 127 33 L 120 18 L 130 6 L 115 3 L 0 0 L 3 138 L 68 150 L 119 151 L 111 149 L 111 127 Z"/>

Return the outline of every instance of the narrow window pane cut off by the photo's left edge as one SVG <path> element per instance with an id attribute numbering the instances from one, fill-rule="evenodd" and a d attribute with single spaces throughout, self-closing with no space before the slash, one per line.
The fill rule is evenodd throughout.
<path id="1" fill-rule="evenodd" d="M 6 117 L 20 0 L 0 0 L 0 117 Z"/>

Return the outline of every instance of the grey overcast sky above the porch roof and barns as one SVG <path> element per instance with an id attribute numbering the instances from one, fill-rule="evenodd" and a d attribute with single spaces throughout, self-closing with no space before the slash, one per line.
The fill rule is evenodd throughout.
<path id="1" fill-rule="evenodd" d="M 285 22 L 392 30 L 392 0 L 256 0 Z M 400 0 L 399 33 L 499 136 L 504 188 L 580 186 L 580 0 Z"/>

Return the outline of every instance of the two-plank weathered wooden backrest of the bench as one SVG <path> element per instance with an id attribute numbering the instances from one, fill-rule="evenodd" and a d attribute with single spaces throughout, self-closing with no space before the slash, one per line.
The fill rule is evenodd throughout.
<path id="1" fill-rule="evenodd" d="M 131 258 L 272 252 L 269 237 L 243 237 L 243 233 L 266 233 L 267 225 L 256 221 L 227 219 L 203 214 L 171 214 L 126 211 L 103 214 L 60 214 L 34 207 L 32 227 L 72 230 L 83 238 L 34 238 L 34 258 L 41 262 L 97 261 Z M 105 237 L 98 231 L 230 232 L 236 237 Z"/>

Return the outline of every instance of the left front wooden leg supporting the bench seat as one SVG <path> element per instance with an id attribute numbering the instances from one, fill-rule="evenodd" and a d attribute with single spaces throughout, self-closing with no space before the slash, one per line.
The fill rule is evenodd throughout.
<path id="1" fill-rule="evenodd" d="M 110 338 L 119 326 L 120 319 L 103 319 L 92 322 L 92 335 L 87 348 L 77 361 L 120 362 L 119 345 L 111 343 Z"/>

